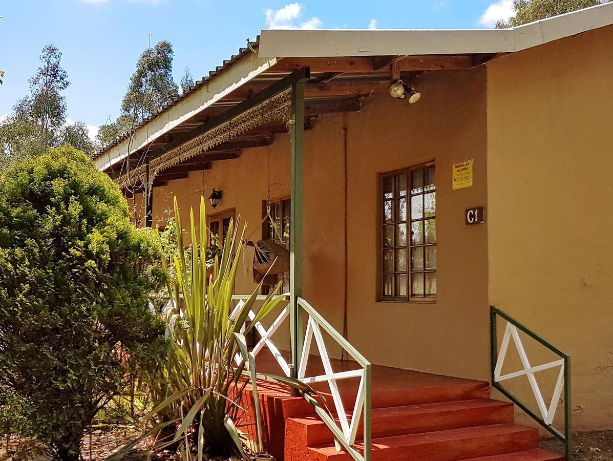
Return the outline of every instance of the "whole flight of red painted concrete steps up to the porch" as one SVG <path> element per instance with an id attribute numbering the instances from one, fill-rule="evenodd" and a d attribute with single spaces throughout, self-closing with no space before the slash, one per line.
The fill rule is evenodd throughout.
<path id="1" fill-rule="evenodd" d="M 514 424 L 512 403 L 492 400 L 489 383 L 386 367 L 373 371 L 373 461 L 564 459 L 538 448 L 537 429 Z M 332 433 L 302 398 L 271 384 L 259 391 L 268 451 L 277 461 L 352 461 L 337 453 Z M 352 408 L 351 398 L 345 408 Z"/>

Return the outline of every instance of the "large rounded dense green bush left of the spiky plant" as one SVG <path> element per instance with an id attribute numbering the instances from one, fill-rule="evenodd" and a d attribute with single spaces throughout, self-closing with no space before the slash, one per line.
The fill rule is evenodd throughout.
<path id="1" fill-rule="evenodd" d="M 148 302 L 166 281 L 161 255 L 72 147 L 0 176 L 0 402 L 55 459 L 78 460 L 97 412 L 166 354 Z"/>

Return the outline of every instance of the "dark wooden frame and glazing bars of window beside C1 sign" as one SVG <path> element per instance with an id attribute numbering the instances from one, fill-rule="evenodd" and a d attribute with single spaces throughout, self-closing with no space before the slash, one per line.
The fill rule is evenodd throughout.
<path id="1" fill-rule="evenodd" d="M 429 192 L 437 192 L 437 187 L 436 187 L 436 179 L 434 182 L 434 188 L 432 190 L 428 190 L 428 191 L 422 191 L 422 192 L 417 192 L 416 194 L 411 194 L 411 189 L 413 189 L 413 175 L 411 174 L 411 172 L 415 171 L 415 170 L 424 170 L 425 173 L 425 169 L 427 167 L 430 166 L 435 166 L 435 161 L 428 161 L 428 162 L 424 162 L 421 164 L 417 164 L 414 166 L 410 166 L 410 167 L 406 167 L 406 168 L 402 168 L 402 169 L 398 169 L 398 170 L 393 170 L 393 171 L 389 171 L 389 172 L 384 172 L 384 173 L 379 173 L 378 175 L 378 194 L 377 194 L 377 240 L 378 240 L 378 245 L 377 245 L 377 255 L 376 255 L 376 261 L 377 261 L 377 277 L 376 277 L 376 282 L 377 282 L 377 289 L 376 289 L 376 301 L 377 302 L 403 302 L 403 303 L 407 303 L 407 302 L 415 302 L 415 303 L 435 303 L 436 302 L 436 295 L 438 295 L 438 284 L 437 284 L 437 290 L 434 296 L 425 296 L 425 274 L 426 273 L 437 273 L 438 272 L 438 264 L 436 264 L 437 267 L 435 267 L 434 269 L 426 269 L 425 268 L 425 248 L 427 246 L 433 246 L 436 247 L 438 246 L 438 238 L 435 239 L 434 243 L 425 243 L 425 234 L 422 236 L 424 238 L 424 242 L 420 245 L 411 245 L 411 224 L 418 222 L 418 221 L 422 221 L 425 222 L 433 219 L 436 223 L 436 208 L 435 208 L 435 213 L 433 216 L 428 216 L 425 217 L 425 210 L 424 210 L 424 215 L 422 216 L 422 218 L 416 218 L 413 219 L 411 216 L 411 197 L 413 196 L 419 196 Z M 384 217 L 384 203 L 386 202 L 386 199 L 384 199 L 383 197 L 383 187 L 384 187 L 384 178 L 386 177 L 395 177 L 399 174 L 404 173 L 406 175 L 406 220 L 405 221 L 395 221 L 394 220 L 394 213 L 395 211 L 393 210 L 393 204 L 394 201 L 397 199 L 397 185 L 394 181 L 394 194 L 393 194 L 393 198 L 392 198 L 392 221 L 390 221 L 389 223 L 385 222 L 385 217 Z M 435 169 L 435 177 L 436 177 L 436 169 Z M 424 181 L 425 181 L 425 177 L 424 177 Z M 436 194 L 436 196 L 438 196 L 438 194 Z M 399 197 L 399 196 L 398 196 Z M 436 202 L 435 202 L 436 203 Z M 384 246 L 384 226 L 386 225 L 396 225 L 396 224 L 402 224 L 402 223 L 406 223 L 406 245 L 404 246 L 390 246 L 390 247 L 386 247 Z M 424 230 L 425 230 L 425 226 L 424 226 Z M 395 242 L 394 242 L 395 243 Z M 422 247 L 424 248 L 424 269 L 423 270 L 412 270 L 411 269 L 411 248 L 417 248 L 417 247 Z M 397 271 L 394 270 L 393 272 L 386 272 L 385 268 L 384 268 L 384 264 L 385 264 L 385 251 L 386 250 L 402 250 L 403 248 L 406 248 L 406 271 L 402 272 L 402 271 Z M 395 259 L 395 257 L 394 257 Z M 395 264 L 395 261 L 394 261 Z M 396 269 L 394 267 L 394 269 Z M 407 277 L 407 286 L 406 286 L 406 295 L 405 296 L 392 296 L 392 295 L 385 295 L 384 294 L 384 274 L 391 274 L 393 273 L 394 276 L 396 275 L 403 275 L 406 274 Z M 424 296 L 413 296 L 411 295 L 412 292 L 412 283 L 413 283 L 413 278 L 412 275 L 414 273 L 423 273 L 424 274 Z M 396 283 L 396 282 L 395 282 Z"/>

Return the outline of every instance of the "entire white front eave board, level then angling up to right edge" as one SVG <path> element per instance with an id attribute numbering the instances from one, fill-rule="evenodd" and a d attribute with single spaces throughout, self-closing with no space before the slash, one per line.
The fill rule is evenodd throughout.
<path id="1" fill-rule="evenodd" d="M 511 29 L 263 29 L 261 58 L 514 53 L 613 24 L 613 2 Z"/>

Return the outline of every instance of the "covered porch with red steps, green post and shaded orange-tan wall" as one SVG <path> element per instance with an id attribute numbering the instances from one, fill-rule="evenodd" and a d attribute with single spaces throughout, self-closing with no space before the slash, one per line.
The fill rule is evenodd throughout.
<path id="1" fill-rule="evenodd" d="M 265 66 L 249 53 L 242 51 L 243 61 Z M 224 220 L 238 215 L 255 224 L 249 238 L 273 237 L 267 226 L 275 219 L 262 210 L 279 204 L 275 232 L 290 247 L 291 299 L 289 335 L 275 354 L 286 375 L 327 395 L 336 412 L 326 420 L 308 397 L 261 383 L 269 449 L 279 459 L 559 459 L 535 451 L 538 431 L 513 425 L 512 405 L 489 399 L 487 224 L 466 226 L 464 211 L 487 200 L 481 64 L 492 57 L 275 61 L 129 154 L 126 169 L 114 173 L 147 226 L 164 225 L 173 196 L 189 208 L 221 189 L 209 222 L 218 223 L 222 237 Z M 419 84 L 425 95 L 419 104 L 390 96 L 388 83 L 399 80 Z M 467 159 L 474 162 L 471 187 L 455 190 L 452 165 Z M 421 186 L 408 186 L 418 170 Z M 423 216 L 427 194 L 436 211 Z M 420 197 L 415 219 L 406 196 Z M 409 218 L 402 217 L 403 197 Z M 436 235 L 424 243 L 426 219 L 436 223 Z M 421 237 L 413 235 L 414 223 Z M 424 262 L 425 253 L 413 261 L 415 248 L 438 250 L 434 265 Z M 386 266 L 387 254 L 394 269 Z M 430 291 L 425 285 L 414 291 L 413 272 L 422 284 L 434 276 L 434 290 L 431 284 Z M 251 292 L 253 280 L 246 274 L 237 288 Z M 317 323 L 329 325 L 333 336 L 321 339 L 305 367 L 311 349 L 302 341 L 310 340 L 309 328 L 315 334 L 307 321 L 315 314 L 305 315 L 299 299 L 317 307 Z M 359 367 L 340 361 L 343 351 L 354 352 Z M 270 365 L 258 357 L 259 372 Z M 345 452 L 337 454 L 333 436 Z"/>

